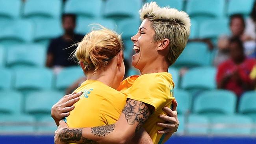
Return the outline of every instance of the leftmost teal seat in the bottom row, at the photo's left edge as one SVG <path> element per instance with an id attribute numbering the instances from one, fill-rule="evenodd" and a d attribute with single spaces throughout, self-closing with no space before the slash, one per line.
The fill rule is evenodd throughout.
<path id="1" fill-rule="evenodd" d="M 35 119 L 29 115 L 0 116 L 0 133 L 33 133 Z"/>

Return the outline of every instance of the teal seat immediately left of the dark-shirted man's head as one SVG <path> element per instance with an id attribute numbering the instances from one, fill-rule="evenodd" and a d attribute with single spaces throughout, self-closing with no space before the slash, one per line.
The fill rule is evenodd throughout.
<path id="1" fill-rule="evenodd" d="M 48 46 L 50 39 L 62 35 L 61 20 L 41 18 L 35 21 L 34 41 Z"/>

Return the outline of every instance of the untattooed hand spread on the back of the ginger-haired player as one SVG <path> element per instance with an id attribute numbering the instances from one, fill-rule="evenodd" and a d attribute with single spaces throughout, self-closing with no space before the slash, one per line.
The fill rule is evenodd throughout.
<path id="1" fill-rule="evenodd" d="M 79 96 L 81 94 L 82 92 L 74 92 L 72 94 L 63 96 L 63 98 L 61 98 L 59 102 L 52 106 L 52 118 L 54 118 L 55 121 L 59 121 L 62 118 L 69 116 L 70 111 L 75 108 L 74 103 L 78 102 L 78 100 L 80 99 Z M 56 122 L 56 124 L 58 125 L 58 122 Z"/>

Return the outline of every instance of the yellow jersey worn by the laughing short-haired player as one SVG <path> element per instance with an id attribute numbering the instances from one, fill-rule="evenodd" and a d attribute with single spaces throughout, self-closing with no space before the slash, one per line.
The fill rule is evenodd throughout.
<path id="1" fill-rule="evenodd" d="M 142 76 L 130 76 L 121 82 L 119 88 L 127 98 L 147 103 L 154 107 L 154 113 L 150 115 L 143 127 L 152 138 L 154 144 L 164 143 L 169 137 L 157 132 L 162 127 L 157 126 L 161 121 L 158 116 L 166 113 L 163 107 L 171 107 L 173 97 L 174 82 L 168 72 L 143 74 Z M 163 136 L 163 137 L 162 137 Z"/>

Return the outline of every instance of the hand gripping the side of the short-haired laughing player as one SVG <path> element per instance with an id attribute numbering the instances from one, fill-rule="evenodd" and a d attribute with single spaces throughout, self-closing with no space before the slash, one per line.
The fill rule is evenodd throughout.
<path id="1" fill-rule="evenodd" d="M 180 124 L 178 117 L 177 117 L 177 101 L 173 100 L 173 108 L 170 109 L 169 107 L 164 107 L 163 111 L 167 113 L 167 116 L 165 115 L 160 115 L 159 118 L 162 120 L 165 120 L 165 123 L 158 123 L 158 126 L 164 127 L 161 131 L 158 131 L 159 134 L 163 133 L 171 133 L 173 134 L 174 132 L 177 131 L 178 126 Z"/>

